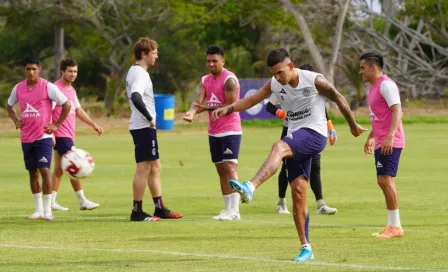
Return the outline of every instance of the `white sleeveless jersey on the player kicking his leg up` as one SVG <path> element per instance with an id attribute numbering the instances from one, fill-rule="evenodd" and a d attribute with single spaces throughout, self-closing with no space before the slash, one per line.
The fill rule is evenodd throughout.
<path id="1" fill-rule="evenodd" d="M 315 72 L 296 69 L 299 85 L 282 85 L 274 77 L 271 80 L 272 93 L 277 97 L 288 117 L 288 134 L 310 128 L 327 137 L 327 119 L 325 117 L 325 99 L 314 85 Z"/>

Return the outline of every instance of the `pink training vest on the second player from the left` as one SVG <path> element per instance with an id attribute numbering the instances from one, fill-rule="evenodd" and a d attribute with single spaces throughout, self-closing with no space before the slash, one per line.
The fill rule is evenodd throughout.
<path id="1" fill-rule="evenodd" d="M 67 118 L 64 120 L 62 125 L 54 132 L 54 136 L 57 138 L 71 138 L 75 139 L 75 127 L 76 127 L 76 109 L 80 108 L 78 97 L 76 96 L 76 90 L 73 86 L 67 87 L 60 80 L 54 83 L 58 87 L 58 89 L 67 97 L 68 101 L 70 101 L 71 109 Z M 62 106 L 57 105 L 53 109 L 53 123 L 55 123 L 59 116 L 61 116 Z"/>

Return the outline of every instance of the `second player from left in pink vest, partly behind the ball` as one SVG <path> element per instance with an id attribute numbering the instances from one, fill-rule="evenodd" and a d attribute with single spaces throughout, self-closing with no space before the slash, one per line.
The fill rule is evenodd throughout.
<path id="1" fill-rule="evenodd" d="M 53 210 L 68 211 L 68 208 L 62 207 L 56 202 L 56 197 L 59 190 L 59 185 L 61 184 L 62 174 L 64 173 L 61 168 L 62 155 L 74 148 L 76 117 L 91 126 L 93 130 L 98 133 L 98 136 L 101 136 L 101 134 L 103 133 L 103 129 L 99 127 L 95 122 L 93 122 L 92 119 L 90 119 L 89 115 L 81 108 L 78 97 L 76 95 L 76 90 L 72 86 L 72 83 L 76 80 L 76 77 L 78 75 L 78 63 L 72 59 L 64 59 L 61 61 L 60 72 L 61 78 L 57 80 L 54 85 L 56 85 L 59 90 L 68 98 L 71 104 L 71 109 L 67 119 L 65 119 L 59 129 L 54 133 L 55 166 L 53 171 L 53 198 L 51 202 L 51 208 Z M 52 114 L 53 121 L 59 119 L 61 111 L 61 106 L 54 105 Z M 78 197 L 79 208 L 81 210 L 93 210 L 100 205 L 88 200 L 84 196 L 84 190 L 82 189 L 82 183 L 80 180 L 71 178 L 70 182 L 76 196 Z"/>

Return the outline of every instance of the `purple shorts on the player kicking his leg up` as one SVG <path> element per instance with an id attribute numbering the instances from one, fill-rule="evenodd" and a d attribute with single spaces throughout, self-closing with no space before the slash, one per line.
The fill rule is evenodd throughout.
<path id="1" fill-rule="evenodd" d="M 282 141 L 289 145 L 293 153 L 293 158 L 285 161 L 288 181 L 291 183 L 300 176 L 309 180 L 312 158 L 324 150 L 327 137 L 315 130 L 301 128 L 283 137 Z"/>

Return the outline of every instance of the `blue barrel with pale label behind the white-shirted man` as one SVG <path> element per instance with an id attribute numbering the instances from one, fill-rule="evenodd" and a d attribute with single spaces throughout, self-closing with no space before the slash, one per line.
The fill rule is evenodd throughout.
<path id="1" fill-rule="evenodd" d="M 156 94 L 156 128 L 173 130 L 174 128 L 174 95 Z"/>

